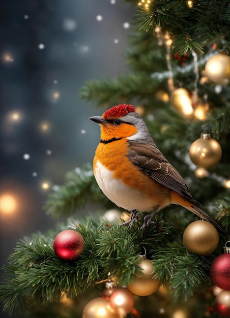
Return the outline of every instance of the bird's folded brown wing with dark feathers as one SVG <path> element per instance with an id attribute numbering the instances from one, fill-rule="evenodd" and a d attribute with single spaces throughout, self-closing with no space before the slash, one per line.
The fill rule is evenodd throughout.
<path id="1" fill-rule="evenodd" d="M 196 202 L 180 173 L 172 167 L 155 144 L 134 144 L 129 141 L 128 157 L 132 163 L 160 184 Z"/>

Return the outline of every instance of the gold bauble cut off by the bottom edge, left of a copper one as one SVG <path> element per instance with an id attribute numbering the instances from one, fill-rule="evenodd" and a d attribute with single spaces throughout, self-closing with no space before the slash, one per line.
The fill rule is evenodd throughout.
<path id="1" fill-rule="evenodd" d="M 112 308 L 109 301 L 105 298 L 98 297 L 92 299 L 85 305 L 82 318 L 114 318 L 120 317 L 116 308 Z"/>

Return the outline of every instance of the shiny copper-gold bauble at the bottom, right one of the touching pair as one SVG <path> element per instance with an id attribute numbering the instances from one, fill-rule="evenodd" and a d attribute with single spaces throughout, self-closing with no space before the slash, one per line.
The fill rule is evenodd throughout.
<path id="1" fill-rule="evenodd" d="M 120 315 L 130 312 L 134 305 L 132 293 L 126 287 L 117 287 L 109 299 L 110 306 L 116 308 Z"/>

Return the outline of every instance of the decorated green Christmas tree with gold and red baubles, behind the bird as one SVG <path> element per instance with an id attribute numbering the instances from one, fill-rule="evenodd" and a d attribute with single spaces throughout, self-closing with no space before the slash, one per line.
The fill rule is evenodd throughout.
<path id="1" fill-rule="evenodd" d="M 133 104 L 194 199 L 229 232 L 229 3 L 129 3 L 137 8 L 125 56 L 129 74 L 86 82 L 80 97 L 105 110 Z M 97 213 L 76 218 L 88 203 Z M 45 209 L 68 219 L 16 244 L 0 289 L 9 315 L 229 316 L 229 270 L 214 266 L 221 257 L 229 268 L 229 237 L 188 210 L 172 205 L 145 229 L 145 213 L 132 227 L 120 227 L 129 211 L 103 195 L 92 163 L 69 172 Z M 195 221 L 202 222 L 199 234 Z M 116 303 L 116 293 L 124 305 Z M 96 313 L 100 308 L 105 313 Z"/>

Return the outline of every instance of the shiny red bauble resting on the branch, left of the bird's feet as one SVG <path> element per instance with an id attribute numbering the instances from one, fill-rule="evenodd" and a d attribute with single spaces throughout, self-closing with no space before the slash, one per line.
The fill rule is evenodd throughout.
<path id="1" fill-rule="evenodd" d="M 76 260 L 84 250 L 84 239 L 74 230 L 65 230 L 57 234 L 53 241 L 53 250 L 63 261 Z"/>

